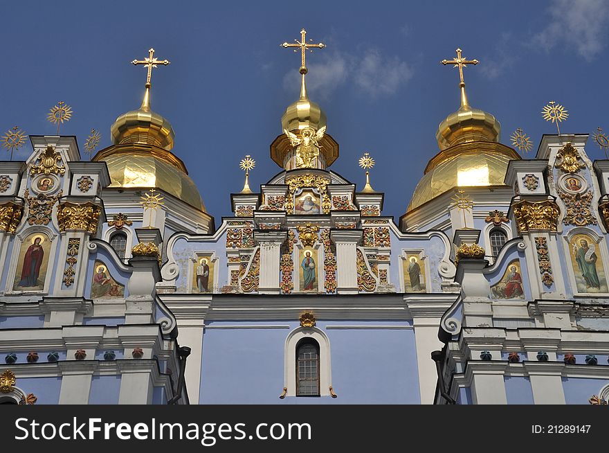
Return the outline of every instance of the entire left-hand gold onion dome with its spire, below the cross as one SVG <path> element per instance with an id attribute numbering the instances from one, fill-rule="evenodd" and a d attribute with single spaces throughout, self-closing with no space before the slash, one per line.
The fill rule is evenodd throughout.
<path id="1" fill-rule="evenodd" d="M 110 188 L 154 187 L 206 210 L 184 163 L 170 151 L 175 137 L 171 123 L 150 109 L 149 87 L 141 107 L 118 116 L 110 132 L 113 145 L 91 159 L 107 163 Z"/>

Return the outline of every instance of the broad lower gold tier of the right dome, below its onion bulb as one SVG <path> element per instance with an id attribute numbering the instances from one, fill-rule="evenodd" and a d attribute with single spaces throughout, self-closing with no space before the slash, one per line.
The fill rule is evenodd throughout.
<path id="1" fill-rule="evenodd" d="M 469 141 L 442 150 L 427 164 L 407 212 L 455 187 L 504 186 L 507 164 L 513 159 L 520 159 L 516 151 L 491 141 Z"/>

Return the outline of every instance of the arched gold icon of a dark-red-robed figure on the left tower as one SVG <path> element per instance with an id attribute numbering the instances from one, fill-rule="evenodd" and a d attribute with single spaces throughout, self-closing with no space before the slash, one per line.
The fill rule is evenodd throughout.
<path id="1" fill-rule="evenodd" d="M 44 288 L 50 248 L 48 238 L 39 233 L 24 240 L 19 251 L 18 263 L 21 264 L 17 265 L 13 290 L 40 291 Z"/>

